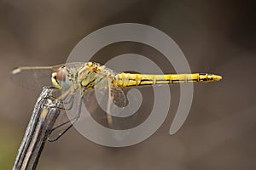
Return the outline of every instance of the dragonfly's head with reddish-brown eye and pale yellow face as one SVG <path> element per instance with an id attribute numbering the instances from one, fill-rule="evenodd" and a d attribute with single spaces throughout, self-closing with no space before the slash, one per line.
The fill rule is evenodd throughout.
<path id="1" fill-rule="evenodd" d="M 55 88 L 68 89 L 72 86 L 72 77 L 65 66 L 61 66 L 51 75 L 51 82 Z"/>

